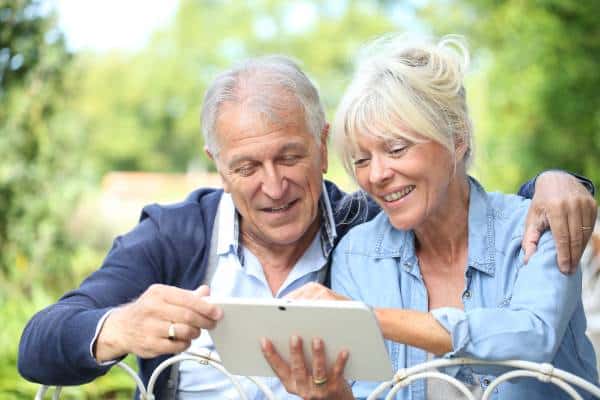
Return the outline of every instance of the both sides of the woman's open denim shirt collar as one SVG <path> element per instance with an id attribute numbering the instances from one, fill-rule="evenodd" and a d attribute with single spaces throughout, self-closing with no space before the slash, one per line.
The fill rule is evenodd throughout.
<path id="1" fill-rule="evenodd" d="M 494 275 L 494 211 L 483 187 L 469 177 L 468 265 L 481 272 Z M 377 258 L 398 257 L 407 270 L 417 263 L 414 232 L 400 231 L 389 220 L 379 225 L 382 232 L 376 236 L 374 254 Z"/>

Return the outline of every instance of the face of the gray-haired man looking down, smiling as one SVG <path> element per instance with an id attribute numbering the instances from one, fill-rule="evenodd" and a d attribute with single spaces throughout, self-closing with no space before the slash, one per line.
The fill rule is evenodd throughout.
<path id="1" fill-rule="evenodd" d="M 275 121 L 248 107 L 224 104 L 217 120 L 217 169 L 242 216 L 243 241 L 302 246 L 319 227 L 327 145 L 308 131 L 293 101 Z"/>

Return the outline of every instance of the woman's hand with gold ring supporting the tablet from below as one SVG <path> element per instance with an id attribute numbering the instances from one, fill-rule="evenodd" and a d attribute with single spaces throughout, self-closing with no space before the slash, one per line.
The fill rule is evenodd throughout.
<path id="1" fill-rule="evenodd" d="M 290 339 L 290 364 L 288 364 L 268 339 L 262 339 L 262 352 L 289 393 L 305 400 L 348 400 L 354 399 L 348 382 L 344 379 L 344 368 L 348 361 L 348 351 L 338 354 L 335 364 L 327 368 L 325 345 L 320 338 L 312 340 L 312 373 L 306 368 L 302 338 Z"/>

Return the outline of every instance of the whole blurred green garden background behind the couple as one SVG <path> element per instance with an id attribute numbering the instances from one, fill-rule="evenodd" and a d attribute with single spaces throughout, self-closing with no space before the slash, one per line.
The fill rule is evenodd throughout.
<path id="1" fill-rule="evenodd" d="M 99 266 L 143 204 L 219 185 L 199 129 L 218 71 L 293 56 L 331 117 L 370 38 L 461 33 L 472 173 L 507 192 L 557 167 L 598 184 L 599 15 L 595 0 L 0 0 L 0 397 L 33 397 L 16 370 L 24 324 Z M 339 163 L 329 178 L 352 188 Z M 113 371 L 64 396 L 132 389 Z"/>

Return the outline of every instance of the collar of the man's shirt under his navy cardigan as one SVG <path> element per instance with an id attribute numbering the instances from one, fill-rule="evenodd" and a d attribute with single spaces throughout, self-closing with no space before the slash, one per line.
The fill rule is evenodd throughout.
<path id="1" fill-rule="evenodd" d="M 335 229 L 335 220 L 333 219 L 333 209 L 331 208 L 331 201 L 327 195 L 327 188 L 323 183 L 323 189 L 321 197 L 319 199 L 319 208 L 321 215 L 321 230 L 320 230 L 320 245 L 323 255 L 329 257 L 335 239 L 337 237 L 337 231 Z M 217 238 L 217 254 L 223 255 L 229 252 L 237 254 L 242 265 L 243 263 L 243 252 L 240 243 L 240 214 L 235 209 L 233 199 L 229 193 L 223 193 L 221 200 L 219 201 L 218 210 L 218 238 Z M 233 229 L 231 229 L 233 227 Z"/>

